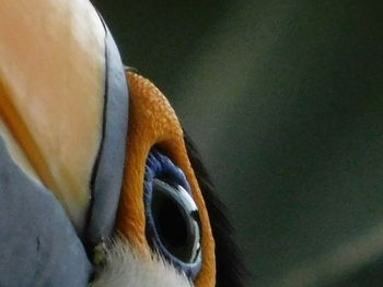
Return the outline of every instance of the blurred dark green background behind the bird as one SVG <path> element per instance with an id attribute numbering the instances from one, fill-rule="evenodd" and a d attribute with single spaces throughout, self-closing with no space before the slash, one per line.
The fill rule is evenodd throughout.
<path id="1" fill-rule="evenodd" d="M 200 146 L 247 286 L 383 286 L 381 1 L 93 2 Z"/>

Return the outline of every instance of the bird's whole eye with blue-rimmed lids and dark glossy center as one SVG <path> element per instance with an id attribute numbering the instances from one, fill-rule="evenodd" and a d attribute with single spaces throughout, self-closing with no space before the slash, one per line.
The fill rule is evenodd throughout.
<path id="1" fill-rule="evenodd" d="M 201 265 L 199 213 L 183 171 L 152 151 L 144 180 L 146 236 L 152 249 L 194 278 Z"/>

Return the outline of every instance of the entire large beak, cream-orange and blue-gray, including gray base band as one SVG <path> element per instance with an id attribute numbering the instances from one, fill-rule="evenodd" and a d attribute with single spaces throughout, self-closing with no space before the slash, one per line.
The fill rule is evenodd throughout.
<path id="1" fill-rule="evenodd" d="M 1 3 L 0 286 L 86 286 L 85 246 L 115 222 L 127 118 L 119 53 L 89 1 Z"/>

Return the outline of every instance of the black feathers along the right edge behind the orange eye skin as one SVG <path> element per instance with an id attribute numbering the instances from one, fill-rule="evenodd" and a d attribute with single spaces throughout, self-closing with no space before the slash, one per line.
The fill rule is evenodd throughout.
<path id="1" fill-rule="evenodd" d="M 202 192 L 209 213 L 212 235 L 216 241 L 217 287 L 243 287 L 243 277 L 247 273 L 233 239 L 233 227 L 227 216 L 228 211 L 214 194 L 214 186 L 205 168 L 201 157 L 184 132 L 187 154 Z"/>

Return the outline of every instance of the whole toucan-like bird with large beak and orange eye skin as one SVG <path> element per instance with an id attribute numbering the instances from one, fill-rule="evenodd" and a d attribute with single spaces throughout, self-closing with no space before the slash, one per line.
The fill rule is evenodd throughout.
<path id="1" fill-rule="evenodd" d="M 0 4 L 0 286 L 243 286 L 227 210 L 88 0 Z"/>

